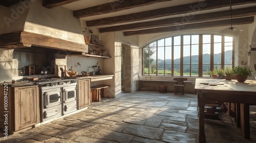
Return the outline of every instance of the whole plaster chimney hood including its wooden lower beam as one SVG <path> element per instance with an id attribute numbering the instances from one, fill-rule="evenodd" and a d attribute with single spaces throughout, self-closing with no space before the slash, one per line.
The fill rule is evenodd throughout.
<path id="1" fill-rule="evenodd" d="M 1 6 L 0 48 L 34 46 L 71 52 L 88 52 L 81 22 L 73 12 L 57 7 L 47 9 L 41 0 L 25 0 L 8 8 Z"/>

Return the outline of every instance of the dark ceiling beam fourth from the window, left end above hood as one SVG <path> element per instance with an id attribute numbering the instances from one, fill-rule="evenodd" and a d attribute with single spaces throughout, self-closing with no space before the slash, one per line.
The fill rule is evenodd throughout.
<path id="1" fill-rule="evenodd" d="M 173 1 L 173 0 L 120 0 L 120 1 L 113 1 L 111 3 L 98 5 L 86 9 L 76 10 L 73 12 L 76 18 L 99 15 L 99 14 L 106 14 L 111 12 L 117 12 L 125 9 L 131 9 L 135 7 L 141 7 L 146 5 L 152 5 L 155 3 L 161 3 L 166 1 Z"/>

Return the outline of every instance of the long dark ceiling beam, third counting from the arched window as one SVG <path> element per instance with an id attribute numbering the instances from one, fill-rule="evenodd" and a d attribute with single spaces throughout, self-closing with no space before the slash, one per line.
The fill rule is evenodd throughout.
<path id="1" fill-rule="evenodd" d="M 255 3 L 255 2 L 256 0 L 233 0 L 232 5 L 242 5 L 242 4 L 249 4 L 249 3 Z M 228 7 L 229 5 L 230 5 L 229 1 L 223 1 L 223 0 L 202 1 L 198 3 L 161 8 L 161 9 L 144 11 L 139 13 L 89 20 L 86 22 L 86 24 L 88 27 L 114 25 L 114 24 L 124 23 L 124 22 L 133 22 L 133 21 L 139 21 L 139 20 L 159 18 L 162 16 L 186 14 L 190 12 L 198 12 L 198 11 L 209 10 L 209 9 L 223 8 L 223 7 Z"/>

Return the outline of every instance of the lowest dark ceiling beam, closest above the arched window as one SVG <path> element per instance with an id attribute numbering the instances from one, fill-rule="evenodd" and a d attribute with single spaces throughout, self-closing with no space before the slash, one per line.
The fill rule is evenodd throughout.
<path id="1" fill-rule="evenodd" d="M 233 23 L 233 25 L 244 25 L 244 24 L 252 23 L 253 21 L 254 21 L 254 16 L 250 16 L 250 17 L 243 17 L 243 18 L 234 18 L 232 23 Z M 220 27 L 220 26 L 229 26 L 230 27 L 230 24 L 231 24 L 230 19 L 225 19 L 225 20 L 193 23 L 193 24 L 188 24 L 188 25 L 178 25 L 178 26 L 144 29 L 144 30 L 137 30 L 137 31 L 125 31 L 125 32 L 123 32 L 123 35 L 124 36 L 132 36 L 132 35 L 173 32 L 173 31 L 179 32 L 181 30 L 212 28 L 212 27 Z"/>

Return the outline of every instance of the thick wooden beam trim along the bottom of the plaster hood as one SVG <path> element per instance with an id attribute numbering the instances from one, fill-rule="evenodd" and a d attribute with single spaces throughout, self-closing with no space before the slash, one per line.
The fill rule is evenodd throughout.
<path id="1" fill-rule="evenodd" d="M 60 51 L 81 53 L 86 53 L 88 51 L 88 45 L 86 44 L 76 43 L 25 31 L 17 31 L 0 35 L 0 48 L 23 49 L 30 47 L 32 50 L 32 45 Z"/>

